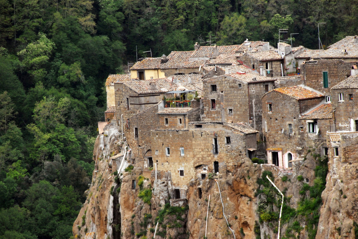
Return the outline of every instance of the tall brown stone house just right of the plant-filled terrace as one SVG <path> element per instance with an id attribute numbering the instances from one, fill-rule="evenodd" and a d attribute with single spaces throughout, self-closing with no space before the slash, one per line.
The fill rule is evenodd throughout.
<path id="1" fill-rule="evenodd" d="M 274 79 L 255 73 L 231 73 L 203 81 L 204 121 L 246 122 L 262 132 L 262 96 Z"/>

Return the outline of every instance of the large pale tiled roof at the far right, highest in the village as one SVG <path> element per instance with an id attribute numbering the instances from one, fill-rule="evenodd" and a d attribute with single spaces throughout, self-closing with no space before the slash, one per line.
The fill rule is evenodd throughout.
<path id="1" fill-rule="evenodd" d="M 314 56 L 314 58 L 358 58 L 358 43 L 354 43 L 357 36 L 346 36 Z"/>

